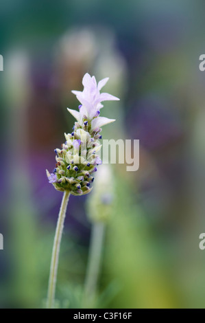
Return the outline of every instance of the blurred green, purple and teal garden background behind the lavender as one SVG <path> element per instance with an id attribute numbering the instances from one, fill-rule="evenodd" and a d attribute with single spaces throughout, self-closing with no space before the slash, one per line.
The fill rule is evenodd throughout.
<path id="1" fill-rule="evenodd" d="M 104 139 L 140 140 L 140 168 L 112 165 L 112 199 L 100 205 L 100 181 L 71 197 L 56 306 L 82 307 L 90 219 L 101 210 L 93 307 L 204 308 L 204 11 L 202 0 L 1 1 L 1 308 L 45 307 L 62 199 L 45 169 L 71 132 L 71 90 L 87 71 L 110 77 L 105 91 L 121 99 L 105 102 L 102 115 L 117 121 Z"/>

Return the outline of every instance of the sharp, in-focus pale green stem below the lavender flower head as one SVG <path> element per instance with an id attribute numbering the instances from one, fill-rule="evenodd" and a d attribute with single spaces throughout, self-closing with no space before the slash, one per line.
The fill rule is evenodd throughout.
<path id="1" fill-rule="evenodd" d="M 58 271 L 58 258 L 60 252 L 60 241 L 62 238 L 62 230 L 64 227 L 64 218 L 66 216 L 67 204 L 69 201 L 70 192 L 64 191 L 62 202 L 60 205 L 60 212 L 58 214 L 58 223 L 56 226 L 56 234 L 53 243 L 53 251 L 51 258 L 50 276 L 49 276 L 49 289 L 47 295 L 47 309 L 53 309 L 56 291 L 56 277 Z"/>

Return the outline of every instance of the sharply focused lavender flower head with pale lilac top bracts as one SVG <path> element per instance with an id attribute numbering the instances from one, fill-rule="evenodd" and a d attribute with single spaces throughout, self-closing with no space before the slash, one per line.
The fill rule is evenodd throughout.
<path id="1" fill-rule="evenodd" d="M 69 191 L 73 195 L 82 195 L 91 192 L 90 185 L 94 177 L 91 175 L 97 170 L 95 166 L 102 164 L 97 152 L 101 149 L 98 139 L 101 138 L 101 126 L 114 122 L 114 119 L 99 117 L 101 102 L 119 100 L 100 90 L 108 82 L 108 78 L 99 81 L 95 76 L 85 74 L 82 84 L 83 91 L 72 91 L 80 101 L 79 111 L 68 109 L 77 122 L 72 133 L 65 133 L 65 144 L 55 149 L 56 172 L 47 177 L 56 190 Z"/>

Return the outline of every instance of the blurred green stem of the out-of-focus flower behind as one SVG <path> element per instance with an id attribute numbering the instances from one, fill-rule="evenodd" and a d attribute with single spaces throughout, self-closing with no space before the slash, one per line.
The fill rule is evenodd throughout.
<path id="1" fill-rule="evenodd" d="M 88 254 L 88 267 L 86 271 L 84 289 L 84 307 L 93 307 L 97 280 L 101 265 L 101 252 L 104 243 L 104 223 L 94 223 L 91 232 L 91 245 Z"/>

